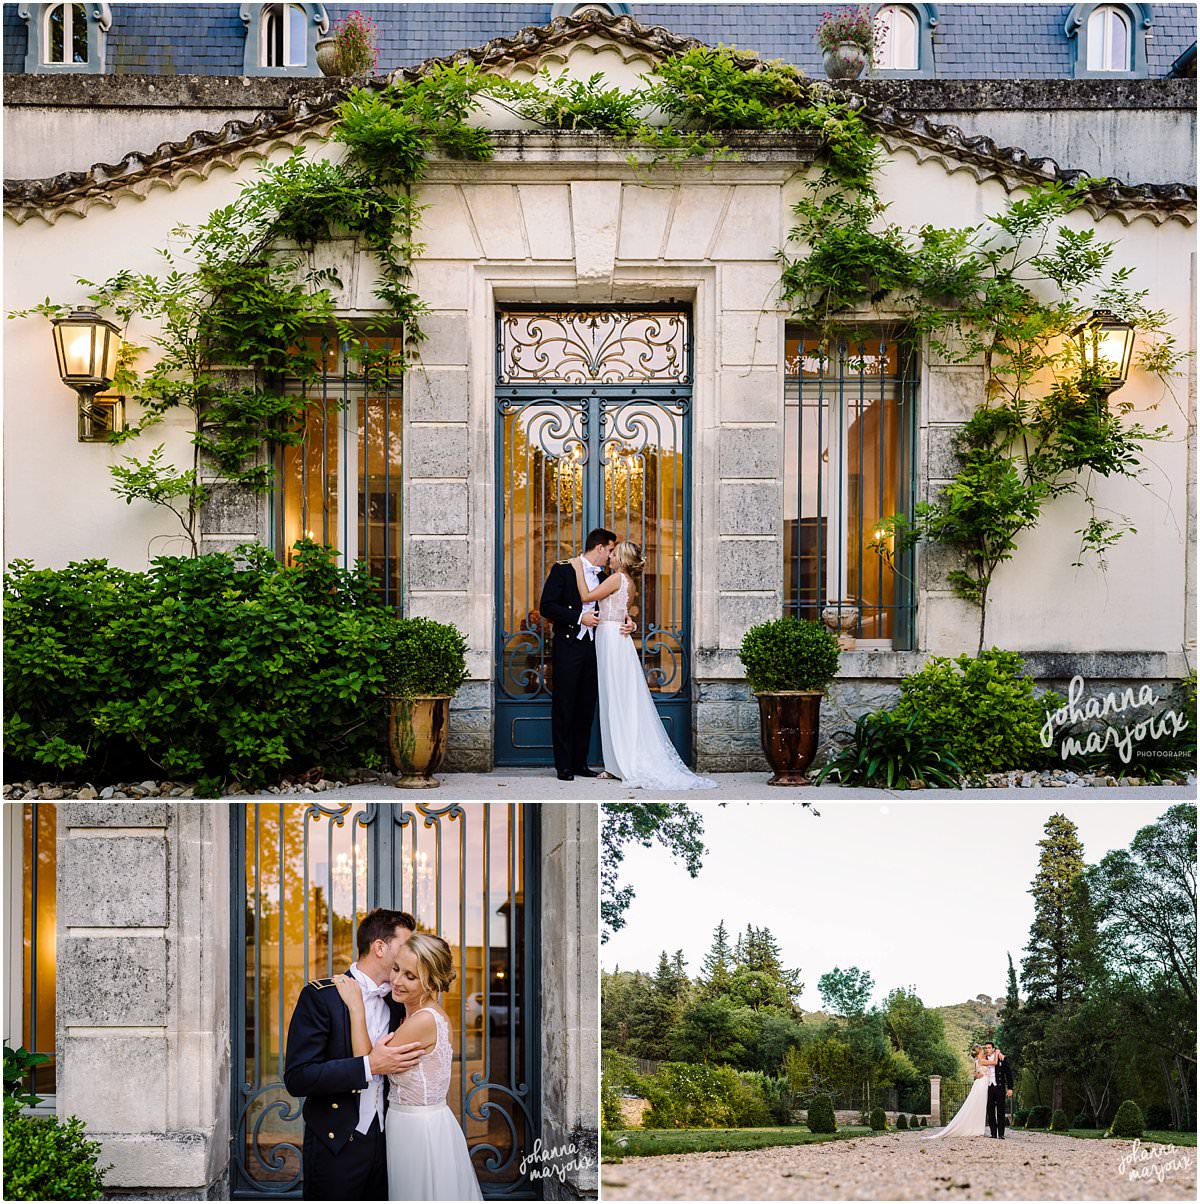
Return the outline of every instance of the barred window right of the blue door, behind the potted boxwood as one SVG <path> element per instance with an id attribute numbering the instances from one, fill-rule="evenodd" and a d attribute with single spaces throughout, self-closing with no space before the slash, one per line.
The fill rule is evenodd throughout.
<path id="1" fill-rule="evenodd" d="M 857 645 L 914 648 L 911 555 L 881 527 L 915 492 L 914 348 L 790 326 L 785 354 L 784 613 Z"/>

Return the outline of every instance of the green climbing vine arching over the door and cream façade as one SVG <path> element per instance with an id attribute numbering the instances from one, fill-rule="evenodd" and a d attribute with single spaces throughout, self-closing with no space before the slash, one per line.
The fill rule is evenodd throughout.
<path id="1" fill-rule="evenodd" d="M 472 120 L 485 101 L 545 129 L 613 135 L 639 170 L 733 158 L 737 131 L 790 135 L 816 149 L 779 253 L 780 296 L 794 318 L 820 334 L 827 354 L 856 325 L 886 314 L 940 355 L 985 367 L 979 409 L 957 439 L 962 467 L 911 515 L 885 518 L 876 543 L 881 555 L 920 539 L 952 549 L 962 563 L 948 580 L 980 607 L 981 647 L 995 569 L 1045 504 L 1068 494 L 1086 500 L 1081 556 L 1103 561 L 1128 529 L 1096 506 L 1093 482 L 1136 477 L 1142 445 L 1166 427 L 1127 421 L 1128 403 L 1106 406 L 1068 335 L 1082 309 L 1105 307 L 1139 330 L 1143 371 L 1166 378 L 1182 355 L 1168 315 L 1133 288 L 1128 268 L 1111 266 L 1115 243 L 1069 224 L 1092 182 L 1035 185 L 975 226 L 902 229 L 887 220 L 876 183 L 880 141 L 855 98 L 745 51 L 697 47 L 664 59 L 637 89 L 549 71 L 519 81 L 472 63 L 356 88 L 330 135 L 344 147 L 342 161 L 298 149 L 266 166 L 235 205 L 176 231 L 162 273 L 81 282 L 93 303 L 156 330 L 158 360 L 146 372 L 132 366 L 143 348 L 126 349 L 117 384 L 140 402 L 142 418 L 114 438 L 131 439 L 178 407 L 191 412 L 190 466 L 171 465 L 160 444 L 112 471 L 126 501 L 178 515 L 193 553 L 209 494 L 201 458 L 226 479 L 266 490 L 272 473 L 262 447 L 298 441 L 305 402 L 279 382 L 314 378 L 306 332 L 333 327 L 356 343 L 398 326 L 402 350 L 391 354 L 390 370 L 403 370 L 424 312 L 412 282 L 421 213 L 413 188 L 435 154 L 491 158 L 490 130 Z M 332 237 L 356 238 L 379 266 L 382 308 L 353 325 L 335 309 L 331 289 L 341 282 L 309 258 Z M 47 301 L 28 312 L 60 311 Z M 370 371 L 372 353 L 360 354 Z"/>

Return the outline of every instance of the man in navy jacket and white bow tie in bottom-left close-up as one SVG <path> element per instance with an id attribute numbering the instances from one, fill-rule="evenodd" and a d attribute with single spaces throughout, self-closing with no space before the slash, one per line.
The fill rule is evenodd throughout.
<path id="1" fill-rule="evenodd" d="M 347 973 L 366 1001 L 374 1045 L 368 1055 L 353 1052 L 350 1013 L 332 979 L 313 979 L 296 1001 L 283 1081 L 305 1100 L 306 1200 L 388 1199 L 385 1076 L 421 1058 L 420 1044 L 385 1044 L 404 1019 L 403 1005 L 391 998 L 391 968 L 415 929 L 407 911 L 384 908 L 370 911 L 359 925 L 359 960 Z"/>

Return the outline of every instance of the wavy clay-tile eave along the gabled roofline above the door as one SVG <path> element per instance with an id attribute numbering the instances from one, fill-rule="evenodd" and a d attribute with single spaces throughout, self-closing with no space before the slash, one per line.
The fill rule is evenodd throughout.
<path id="1" fill-rule="evenodd" d="M 640 25 L 631 17 L 602 17 L 592 10 L 581 17 L 558 17 L 549 25 L 525 29 L 513 37 L 493 39 L 474 49 L 430 59 L 419 66 L 395 71 L 388 79 L 414 79 L 435 64 L 468 59 L 490 70 L 504 71 L 519 63 L 536 61 L 571 42 L 597 36 L 626 49 L 657 57 L 701 45 L 660 26 Z M 753 61 L 749 57 L 745 59 L 747 66 Z M 117 164 L 96 164 L 87 171 L 63 172 L 46 179 L 6 181 L 5 209 L 17 224 L 31 217 L 53 224 L 64 213 L 82 217 L 94 205 L 112 207 L 125 195 L 146 196 L 153 188 L 175 189 L 184 179 L 207 178 L 218 166 L 236 170 L 244 161 L 262 159 L 278 147 L 295 147 L 324 137 L 338 104 L 354 82 L 338 81 L 317 93 L 306 89 L 282 111 L 264 111 L 248 122 L 226 122 L 215 131 L 197 130 L 179 142 L 165 142 L 148 153 L 131 152 Z M 372 87 L 383 87 L 385 82 L 366 81 Z M 909 150 L 918 160 L 935 159 L 948 172 L 968 170 L 981 181 L 995 178 L 1010 191 L 1048 179 L 1072 182 L 1084 176 L 1059 167 L 1053 159 L 1034 158 L 1019 147 L 999 147 L 983 135 L 968 136 L 957 126 L 930 122 L 923 114 L 871 99 L 865 92 L 855 94 L 864 118 L 879 130 L 889 150 Z M 604 141 L 595 134 L 589 137 Z M 538 160 L 546 158 L 546 148 L 564 142 L 560 132 L 518 131 L 510 131 L 504 141 L 527 147 L 530 158 Z M 797 164 L 808 161 L 810 140 L 797 138 L 794 144 Z M 1153 222 L 1174 218 L 1190 224 L 1195 216 L 1195 187 L 1189 184 L 1125 184 L 1106 179 L 1094 189 L 1088 209 L 1096 217 L 1115 213 L 1127 223 L 1146 217 Z"/>

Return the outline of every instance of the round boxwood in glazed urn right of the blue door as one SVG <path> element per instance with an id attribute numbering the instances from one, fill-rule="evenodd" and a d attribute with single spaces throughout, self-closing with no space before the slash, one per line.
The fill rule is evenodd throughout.
<path id="1" fill-rule="evenodd" d="M 738 651 L 758 696 L 763 752 L 772 786 L 806 786 L 821 725 L 821 695 L 838 672 L 838 641 L 810 619 L 751 627 Z"/>

